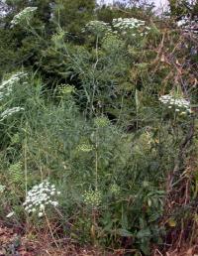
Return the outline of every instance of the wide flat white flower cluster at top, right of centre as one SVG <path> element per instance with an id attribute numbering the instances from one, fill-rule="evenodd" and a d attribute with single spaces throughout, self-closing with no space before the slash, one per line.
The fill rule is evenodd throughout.
<path id="1" fill-rule="evenodd" d="M 144 36 L 148 34 L 150 30 L 149 27 L 146 26 L 146 22 L 142 20 L 138 20 L 136 18 L 118 18 L 113 19 L 112 25 L 115 29 L 121 30 L 124 34 L 129 31 L 139 32 L 139 29 L 142 29 L 140 35 Z M 132 36 L 136 36 L 137 34 L 132 34 Z"/>

